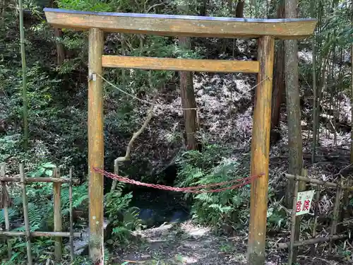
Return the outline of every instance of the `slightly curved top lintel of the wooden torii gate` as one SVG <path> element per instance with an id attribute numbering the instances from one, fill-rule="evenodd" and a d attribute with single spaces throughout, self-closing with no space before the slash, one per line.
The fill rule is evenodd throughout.
<path id="1" fill-rule="evenodd" d="M 249 19 L 208 16 L 174 16 L 141 13 L 85 12 L 44 8 L 49 24 L 55 28 L 88 30 L 100 28 L 109 33 L 136 33 L 164 36 L 257 38 L 265 35 L 277 39 L 309 37 L 316 19 Z"/>

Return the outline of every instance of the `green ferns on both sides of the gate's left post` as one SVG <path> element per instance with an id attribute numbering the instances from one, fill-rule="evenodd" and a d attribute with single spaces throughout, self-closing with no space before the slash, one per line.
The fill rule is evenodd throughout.
<path id="1" fill-rule="evenodd" d="M 52 176 L 53 163 L 41 163 L 34 170 L 27 173 L 28 177 L 49 177 Z M 63 175 L 63 177 L 68 177 Z M 34 182 L 27 184 L 28 195 L 28 217 L 30 220 L 30 230 L 34 231 L 52 231 L 54 229 L 54 202 L 53 202 L 53 184 L 45 182 Z M 61 185 L 61 211 L 63 217 L 63 230 L 68 230 L 69 221 L 69 193 L 68 184 Z M 137 218 L 137 209 L 129 207 L 132 199 L 132 193 L 123 194 L 124 184 L 117 183 L 116 189 L 104 196 L 104 213 L 112 225 L 112 240 L 109 245 L 119 245 L 127 242 L 131 231 L 140 229 L 140 222 Z M 23 204 L 22 194 L 19 187 L 11 186 L 9 188 L 13 206 L 9 208 L 9 217 L 11 224 L 15 225 L 13 231 L 25 231 L 23 225 Z M 88 182 L 73 186 L 73 210 L 88 212 Z M 4 228 L 5 219 L 3 211 L 0 211 L 0 228 Z M 86 224 L 87 225 L 87 224 Z M 85 226 L 85 222 L 76 220 L 78 230 Z M 0 238 L 1 240 L 1 238 Z M 110 244 L 109 244 L 110 243 Z M 4 261 L 1 265 L 20 264 L 25 260 L 25 239 L 22 237 L 11 238 L 13 246 L 13 257 L 11 261 Z M 47 255 L 43 252 L 52 252 L 54 250 L 53 240 L 49 237 L 34 237 L 32 239 L 32 253 L 36 261 L 45 261 Z M 108 251 L 108 249 L 106 249 Z M 6 244 L 0 244 L 0 259 L 7 255 Z M 108 256 L 107 256 L 108 257 Z M 77 261 L 77 262 L 81 262 Z M 11 263 L 8 263 L 11 262 Z M 82 261 L 83 262 L 83 261 Z M 85 264 L 85 263 L 81 263 Z"/>

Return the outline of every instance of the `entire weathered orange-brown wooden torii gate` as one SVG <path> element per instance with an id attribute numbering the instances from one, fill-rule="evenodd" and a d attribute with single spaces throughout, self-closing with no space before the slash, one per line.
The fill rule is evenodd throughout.
<path id="1" fill-rule="evenodd" d="M 90 196 L 90 257 L 103 257 L 104 165 L 103 67 L 134 69 L 258 73 L 251 139 L 251 175 L 265 173 L 251 183 L 248 264 L 265 263 L 268 204 L 270 113 L 275 38 L 301 39 L 313 33 L 314 19 L 248 19 L 205 16 L 170 16 L 140 13 L 95 13 L 45 8 L 49 24 L 56 28 L 89 31 L 88 50 L 88 167 Z M 168 59 L 104 55 L 104 32 L 164 36 L 258 39 L 258 61 Z"/>

